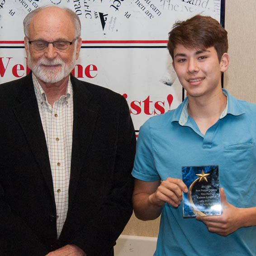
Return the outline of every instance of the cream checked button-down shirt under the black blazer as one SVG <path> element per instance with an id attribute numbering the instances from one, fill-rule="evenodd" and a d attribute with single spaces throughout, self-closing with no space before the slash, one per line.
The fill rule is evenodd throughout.
<path id="1" fill-rule="evenodd" d="M 33 84 L 52 169 L 57 209 L 57 237 L 59 237 L 68 209 L 73 132 L 72 84 L 69 79 L 66 95 L 62 95 L 59 100 L 54 102 L 53 106 L 48 103 L 46 94 L 34 75 Z"/>

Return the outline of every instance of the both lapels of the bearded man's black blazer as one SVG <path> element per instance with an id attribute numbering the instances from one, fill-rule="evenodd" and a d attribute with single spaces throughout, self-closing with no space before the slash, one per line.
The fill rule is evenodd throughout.
<path id="1" fill-rule="evenodd" d="M 71 176 L 69 183 L 69 207 L 76 193 L 81 165 L 90 145 L 95 127 L 99 105 L 91 102 L 92 94 L 85 85 L 71 76 L 73 86 L 74 119 L 71 153 Z M 55 203 L 52 171 L 48 156 L 47 143 L 38 110 L 38 104 L 33 88 L 32 75 L 29 74 L 20 85 L 17 104 L 13 107 L 14 114 L 22 127 L 47 187 Z"/>

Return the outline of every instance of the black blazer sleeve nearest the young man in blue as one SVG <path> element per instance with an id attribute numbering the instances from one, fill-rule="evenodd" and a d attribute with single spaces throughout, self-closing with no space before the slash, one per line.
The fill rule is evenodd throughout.
<path id="1" fill-rule="evenodd" d="M 131 214 L 133 161 L 136 137 L 126 100 L 119 104 L 119 128 L 111 193 L 101 204 L 97 216 L 86 221 L 81 232 L 69 241 L 85 251 L 87 256 L 104 256 L 115 245 Z"/>

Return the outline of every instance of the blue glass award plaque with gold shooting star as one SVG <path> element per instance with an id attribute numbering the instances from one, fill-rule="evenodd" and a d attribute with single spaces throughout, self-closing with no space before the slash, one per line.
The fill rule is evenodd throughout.
<path id="1" fill-rule="evenodd" d="M 221 215 L 218 165 L 181 169 L 183 182 L 188 187 L 188 193 L 183 193 L 183 217 Z"/>

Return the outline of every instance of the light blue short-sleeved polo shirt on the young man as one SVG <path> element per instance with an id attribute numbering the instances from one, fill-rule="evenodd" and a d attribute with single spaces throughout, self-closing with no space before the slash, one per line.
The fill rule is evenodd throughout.
<path id="1" fill-rule="evenodd" d="M 140 128 L 132 175 L 144 181 L 182 178 L 182 166 L 219 166 L 220 187 L 230 204 L 256 206 L 256 104 L 228 91 L 227 107 L 205 135 L 188 115 L 186 98 L 177 109 L 154 116 Z M 227 237 L 210 233 L 182 204 L 164 204 L 154 256 L 256 256 L 256 226 Z"/>

